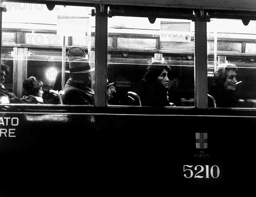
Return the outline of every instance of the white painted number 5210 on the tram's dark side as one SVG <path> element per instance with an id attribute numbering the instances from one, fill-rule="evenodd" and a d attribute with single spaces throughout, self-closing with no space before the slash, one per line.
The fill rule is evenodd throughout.
<path id="1" fill-rule="evenodd" d="M 220 175 L 220 168 L 218 165 L 213 165 L 209 169 L 209 165 L 196 165 L 193 168 L 193 165 L 183 165 L 184 177 L 189 178 L 218 178 Z M 195 174 L 195 176 L 194 176 Z"/>

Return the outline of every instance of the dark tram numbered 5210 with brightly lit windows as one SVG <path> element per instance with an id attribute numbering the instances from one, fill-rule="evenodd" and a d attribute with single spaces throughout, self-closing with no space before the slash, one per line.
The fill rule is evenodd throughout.
<path id="1" fill-rule="evenodd" d="M 30 76 L 53 86 L 62 72 L 63 90 L 72 49 L 95 68 L 94 105 L 1 100 L 0 196 L 253 191 L 255 1 L 8 0 L 0 16 L 2 88 L 17 97 Z M 152 61 L 171 67 L 173 107 L 131 102 Z M 208 106 L 223 63 L 238 68 L 239 107 Z"/>

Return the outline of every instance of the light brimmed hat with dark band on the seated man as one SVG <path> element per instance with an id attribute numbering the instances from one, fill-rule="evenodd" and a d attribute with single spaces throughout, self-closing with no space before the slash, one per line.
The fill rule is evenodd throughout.
<path id="1" fill-rule="evenodd" d="M 90 67 L 87 58 L 81 58 L 74 61 L 70 61 L 69 70 L 67 73 L 87 73 L 93 72 L 95 69 Z"/>

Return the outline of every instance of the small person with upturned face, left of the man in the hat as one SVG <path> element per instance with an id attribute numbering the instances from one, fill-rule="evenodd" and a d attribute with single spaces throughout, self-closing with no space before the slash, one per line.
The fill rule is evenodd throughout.
<path id="1" fill-rule="evenodd" d="M 43 101 L 43 82 L 38 81 L 35 77 L 31 76 L 23 82 L 23 89 L 25 90 L 25 95 L 21 99 L 25 103 L 29 104 L 42 104 Z"/>

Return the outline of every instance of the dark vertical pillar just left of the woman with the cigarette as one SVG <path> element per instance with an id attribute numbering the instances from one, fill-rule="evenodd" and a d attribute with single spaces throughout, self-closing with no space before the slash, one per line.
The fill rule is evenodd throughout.
<path id="1" fill-rule="evenodd" d="M 196 107 L 207 108 L 207 16 L 195 11 L 195 99 Z"/>

